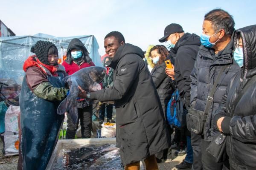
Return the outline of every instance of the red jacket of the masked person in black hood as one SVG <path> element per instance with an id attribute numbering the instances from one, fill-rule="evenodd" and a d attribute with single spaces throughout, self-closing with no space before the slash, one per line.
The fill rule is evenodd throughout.
<path id="1" fill-rule="evenodd" d="M 62 63 L 62 65 L 65 67 L 65 70 L 68 75 L 71 75 L 73 73 L 76 73 L 76 71 L 79 71 L 82 68 L 90 67 L 90 66 L 95 66 L 95 64 L 91 61 L 89 63 L 83 62 L 81 65 L 77 65 L 75 62 L 71 62 L 68 64 L 66 61 Z"/>

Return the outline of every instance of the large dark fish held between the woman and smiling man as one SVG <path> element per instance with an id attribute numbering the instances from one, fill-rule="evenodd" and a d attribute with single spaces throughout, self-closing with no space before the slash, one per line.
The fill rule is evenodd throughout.
<path id="1" fill-rule="evenodd" d="M 58 106 L 57 113 L 64 114 L 68 112 L 72 122 L 76 124 L 78 119 L 77 98 L 80 92 L 78 86 L 87 92 L 101 89 L 99 82 L 105 77 L 106 69 L 93 66 L 82 68 L 76 73 L 65 77 L 62 81 L 70 87 L 70 94 Z"/>

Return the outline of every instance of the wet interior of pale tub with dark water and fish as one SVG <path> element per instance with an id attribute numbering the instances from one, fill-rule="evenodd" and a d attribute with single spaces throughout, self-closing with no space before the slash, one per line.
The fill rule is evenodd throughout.
<path id="1" fill-rule="evenodd" d="M 54 170 L 123 170 L 119 149 L 115 144 L 63 149 Z"/>

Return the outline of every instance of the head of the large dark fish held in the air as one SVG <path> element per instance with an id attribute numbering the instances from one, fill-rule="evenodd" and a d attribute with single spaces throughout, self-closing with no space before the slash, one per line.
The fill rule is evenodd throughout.
<path id="1" fill-rule="evenodd" d="M 93 82 L 100 83 L 106 75 L 106 69 L 104 67 L 94 66 L 90 72 L 89 77 Z"/>

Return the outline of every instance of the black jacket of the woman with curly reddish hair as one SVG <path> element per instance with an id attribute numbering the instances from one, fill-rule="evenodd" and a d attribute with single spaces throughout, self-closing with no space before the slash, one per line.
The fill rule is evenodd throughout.
<path id="1" fill-rule="evenodd" d="M 151 71 L 151 77 L 153 79 L 154 85 L 157 88 L 157 93 L 160 98 L 163 113 L 166 118 L 167 105 L 174 91 L 175 83 L 173 83 L 172 79 L 167 76 L 167 74 L 165 73 L 165 68 L 165 62 L 160 65 L 156 65 Z"/>

